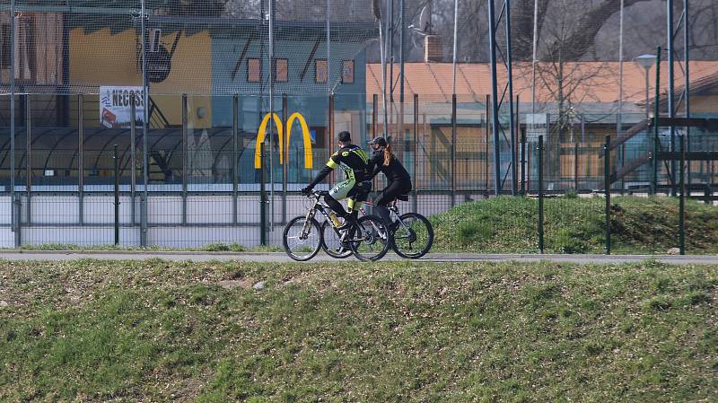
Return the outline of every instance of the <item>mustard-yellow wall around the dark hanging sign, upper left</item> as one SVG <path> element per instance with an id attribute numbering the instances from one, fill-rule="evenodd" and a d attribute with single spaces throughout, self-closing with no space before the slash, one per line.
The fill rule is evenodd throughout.
<path id="1" fill-rule="evenodd" d="M 165 48 L 171 48 L 176 33 L 162 36 Z M 136 31 L 111 34 L 109 29 L 85 32 L 70 31 L 70 82 L 83 83 L 95 91 L 101 85 L 142 85 L 138 68 Z M 181 92 L 210 93 L 212 90 L 212 39 L 208 32 L 180 37 L 172 56 L 170 75 L 162 83 L 151 83 L 150 93 L 171 125 L 182 124 Z M 85 120 L 97 116 L 100 107 L 96 96 L 86 97 Z M 212 99 L 208 96 L 188 95 L 188 118 L 196 128 L 212 127 Z M 197 109 L 204 108 L 204 118 L 197 117 Z"/>

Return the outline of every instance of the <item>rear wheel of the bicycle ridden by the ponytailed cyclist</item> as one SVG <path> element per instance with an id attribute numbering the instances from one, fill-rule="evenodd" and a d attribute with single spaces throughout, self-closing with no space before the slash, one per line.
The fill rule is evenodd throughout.
<path id="1" fill-rule="evenodd" d="M 399 217 L 392 233 L 392 247 L 402 258 L 421 258 L 433 245 L 433 228 L 424 215 L 407 213 Z"/>

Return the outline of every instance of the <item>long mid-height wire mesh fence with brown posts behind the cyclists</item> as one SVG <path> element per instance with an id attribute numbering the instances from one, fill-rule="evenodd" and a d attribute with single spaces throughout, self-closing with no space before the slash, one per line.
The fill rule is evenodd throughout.
<path id="1" fill-rule="evenodd" d="M 14 138 L 8 127 L 0 132 L 4 145 L 0 153 L 0 186 L 4 190 L 0 208 L 4 218 L 0 225 L 5 247 L 116 241 L 127 247 L 165 248 L 199 248 L 217 242 L 246 247 L 279 245 L 287 220 L 304 212 L 304 198 L 297 190 L 316 175 L 337 147 L 328 135 L 329 127 L 350 130 L 362 143 L 383 130 L 383 118 L 372 114 L 378 97 L 367 97 L 362 110 L 353 107 L 354 94 L 347 99 L 339 94 L 309 99 L 279 96 L 276 119 L 271 120 L 261 110 L 261 97 L 219 97 L 211 101 L 230 103 L 229 126 L 203 127 L 196 115 L 190 115 L 193 103 L 205 101 L 203 98 L 162 95 L 156 97 L 157 103 L 178 104 L 180 115 L 176 119 L 180 124 L 151 125 L 145 143 L 144 130 L 136 121 L 129 122 L 128 127 L 104 127 L 99 119 L 85 118 L 99 109 L 97 98 L 82 94 L 54 97 L 57 103 L 72 106 L 65 124 L 58 125 L 42 118 L 48 113 L 43 97 L 17 96 L 15 103 L 22 106 L 19 113 L 23 118 L 15 126 Z M 656 192 L 670 195 L 672 191 L 670 162 L 650 159 L 640 170 L 621 176 L 625 165 L 620 158 L 626 154 L 610 136 L 608 145 L 606 136 L 601 143 L 594 134 L 570 132 L 548 142 L 550 128 L 544 127 L 545 134 L 536 135 L 520 114 L 521 136 L 515 139 L 513 159 L 511 142 L 503 139 L 508 150 L 502 152 L 500 175 L 500 193 L 505 196 L 500 199 L 515 195 L 514 200 L 481 205 L 487 197 L 495 196 L 486 102 L 422 101 L 424 98 L 433 97 L 417 95 L 399 105 L 404 110 L 402 120 L 391 123 L 391 133 L 398 134 L 391 139 L 394 153 L 414 182 L 403 208 L 427 216 L 453 214 L 455 226 L 449 228 L 468 233 L 468 238 L 483 233 L 484 238 L 496 242 L 468 242 L 464 250 L 602 252 L 606 250 L 607 211 L 611 231 L 615 232 L 614 249 L 635 250 L 635 245 L 621 245 L 621 233 L 637 231 L 622 214 L 626 208 L 648 208 L 635 206 L 636 196 Z M 295 112 L 306 102 L 325 109 L 326 120 L 304 118 Z M 269 124 L 276 129 L 273 145 L 261 141 L 269 136 Z M 665 142 L 662 137 L 659 131 L 659 141 Z M 540 153 L 539 138 L 543 142 Z M 632 137 L 636 145 L 626 149 L 635 154 L 650 153 L 654 138 L 655 131 L 648 127 Z M 715 141 L 709 132 L 694 138 L 702 142 L 694 144 L 695 148 Z M 587 141 L 583 143 L 582 139 Z M 15 143 L 14 154 L 11 141 Z M 148 150 L 143 153 L 145 144 Z M 655 163 L 659 175 L 654 180 Z M 714 162 L 693 161 L 686 167 L 692 169 L 687 196 L 713 203 Z M 609 194 L 616 197 L 609 206 L 605 203 L 607 180 Z M 328 188 L 336 181 L 321 186 Z M 374 180 L 375 190 L 384 185 L 382 178 Z M 475 201 L 487 209 L 467 206 L 446 213 Z M 661 198 L 657 203 L 668 203 L 669 211 L 675 209 L 672 201 Z M 689 206 L 688 215 L 693 206 Z M 475 223 L 477 216 L 483 215 Z M 671 233 L 678 233 L 676 217 L 670 218 L 676 221 L 669 225 Z M 446 220 L 450 219 L 437 220 L 448 225 Z M 497 237 L 505 240 L 495 241 Z M 539 239 L 543 240 L 542 248 Z M 667 240 L 663 246 L 670 244 L 670 237 Z M 678 244 L 663 246 L 657 250 Z"/>

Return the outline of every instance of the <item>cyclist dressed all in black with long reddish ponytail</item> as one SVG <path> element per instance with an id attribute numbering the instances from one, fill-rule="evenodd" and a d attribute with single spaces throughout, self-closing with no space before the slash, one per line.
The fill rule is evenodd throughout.
<path id="1" fill-rule="evenodd" d="M 387 177 L 387 187 L 381 190 L 379 197 L 374 200 L 374 208 L 376 212 L 390 228 L 394 228 L 396 223 L 391 223 L 389 204 L 393 202 L 399 195 L 407 194 L 411 191 L 411 176 L 398 161 L 396 155 L 391 152 L 391 146 L 383 137 L 376 137 L 369 142 L 374 151 L 370 166 L 372 166 L 372 178 L 380 171 Z"/>

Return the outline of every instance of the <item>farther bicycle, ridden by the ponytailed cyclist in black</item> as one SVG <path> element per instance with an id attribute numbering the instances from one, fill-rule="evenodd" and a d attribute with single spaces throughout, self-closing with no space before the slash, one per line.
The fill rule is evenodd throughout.
<path id="1" fill-rule="evenodd" d="M 389 206 L 391 224 L 390 234 L 381 232 L 376 228 L 377 236 L 380 239 L 389 238 L 391 248 L 402 258 L 421 258 L 433 245 L 433 227 L 424 215 L 418 213 L 405 213 L 399 215 L 398 201 L 407 201 L 408 195 L 399 195 Z M 366 206 L 373 206 L 372 202 L 365 202 Z M 363 206 L 359 209 L 362 215 L 366 216 Z M 348 258 L 352 255 L 351 250 L 343 248 L 336 236 L 328 231 L 332 224 L 322 223 L 322 249 L 332 258 Z"/>

